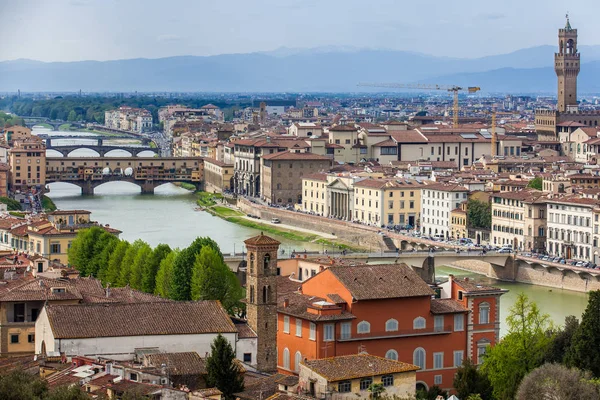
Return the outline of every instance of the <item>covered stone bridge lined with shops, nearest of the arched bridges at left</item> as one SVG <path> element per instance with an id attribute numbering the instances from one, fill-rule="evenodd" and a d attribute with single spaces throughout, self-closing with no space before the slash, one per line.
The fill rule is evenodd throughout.
<path id="1" fill-rule="evenodd" d="M 79 186 L 84 195 L 114 181 L 131 182 L 142 193 L 154 193 L 165 183 L 185 182 L 204 188 L 204 162 L 200 157 L 47 157 L 46 183 Z"/>

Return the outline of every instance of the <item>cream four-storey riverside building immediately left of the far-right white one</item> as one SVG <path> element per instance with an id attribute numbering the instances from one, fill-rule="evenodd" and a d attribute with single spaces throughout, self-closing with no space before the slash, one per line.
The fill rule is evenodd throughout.
<path id="1" fill-rule="evenodd" d="M 491 244 L 513 250 L 546 249 L 547 194 L 534 190 L 497 193 L 492 200 Z"/>

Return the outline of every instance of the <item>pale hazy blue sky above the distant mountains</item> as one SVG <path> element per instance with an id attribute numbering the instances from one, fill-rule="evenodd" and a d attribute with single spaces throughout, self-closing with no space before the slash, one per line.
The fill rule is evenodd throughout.
<path id="1" fill-rule="evenodd" d="M 580 44 L 600 44 L 598 0 L 0 0 L 0 60 L 159 58 L 282 46 L 480 57 L 555 44 L 567 11 Z"/>

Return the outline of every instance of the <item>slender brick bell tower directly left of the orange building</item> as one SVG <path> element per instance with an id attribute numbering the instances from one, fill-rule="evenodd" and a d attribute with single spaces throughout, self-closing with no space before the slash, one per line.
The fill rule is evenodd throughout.
<path id="1" fill-rule="evenodd" d="M 258 336 L 256 368 L 277 371 L 277 252 L 279 242 L 260 235 L 244 241 L 246 257 L 246 315 Z"/>

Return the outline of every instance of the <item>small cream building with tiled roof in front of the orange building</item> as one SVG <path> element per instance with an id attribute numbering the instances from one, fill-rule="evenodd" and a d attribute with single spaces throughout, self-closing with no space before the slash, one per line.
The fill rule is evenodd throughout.
<path id="1" fill-rule="evenodd" d="M 385 395 L 408 399 L 415 396 L 416 365 L 369 354 L 338 356 L 300 362 L 299 386 L 311 397 L 370 399 L 369 387 L 381 384 Z"/>

